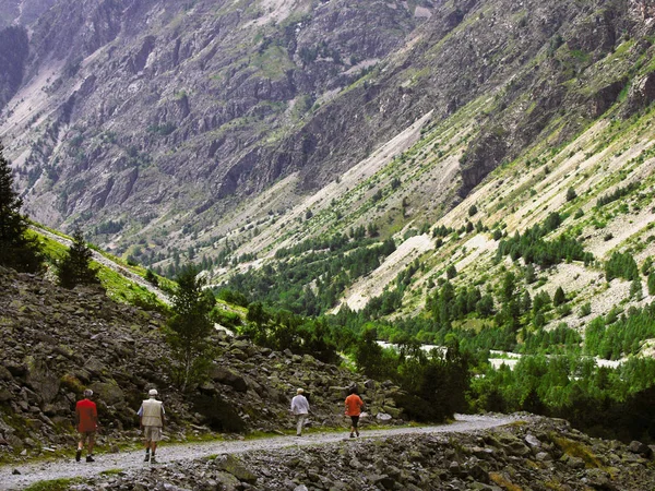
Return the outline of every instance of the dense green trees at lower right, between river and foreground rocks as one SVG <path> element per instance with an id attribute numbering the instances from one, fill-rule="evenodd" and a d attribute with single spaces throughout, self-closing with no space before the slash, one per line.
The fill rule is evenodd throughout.
<path id="1" fill-rule="evenodd" d="M 488 368 L 472 381 L 472 409 L 526 410 L 565 418 L 591 434 L 653 440 L 655 360 L 633 358 L 618 369 L 580 357 L 524 357 L 514 370 Z"/>

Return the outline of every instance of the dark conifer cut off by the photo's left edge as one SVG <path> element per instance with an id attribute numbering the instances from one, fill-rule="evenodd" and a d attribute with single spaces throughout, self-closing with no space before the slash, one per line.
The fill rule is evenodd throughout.
<path id="1" fill-rule="evenodd" d="M 27 236 L 27 217 L 21 214 L 23 200 L 13 189 L 13 176 L 0 145 L 0 265 L 25 273 L 43 267 L 38 239 Z"/>

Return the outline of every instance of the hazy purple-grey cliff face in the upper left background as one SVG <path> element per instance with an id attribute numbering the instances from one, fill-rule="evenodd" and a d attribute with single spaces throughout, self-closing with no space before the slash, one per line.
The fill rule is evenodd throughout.
<path id="1" fill-rule="evenodd" d="M 57 2 L 2 130 L 28 211 L 153 217 L 261 191 L 303 164 L 261 176 L 262 147 L 402 46 L 438 2 L 424 3 Z"/>

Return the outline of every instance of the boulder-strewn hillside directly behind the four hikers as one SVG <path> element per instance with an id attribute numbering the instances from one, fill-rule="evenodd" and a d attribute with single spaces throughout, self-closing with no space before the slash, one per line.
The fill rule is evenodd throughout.
<path id="1" fill-rule="evenodd" d="M 0 270 L 0 459 L 58 454 L 74 441 L 75 402 L 95 392 L 100 444 L 136 439 L 135 410 L 157 387 L 169 436 L 281 431 L 296 387 L 310 395 L 312 427 L 343 426 L 346 387 L 357 383 L 376 421 L 402 421 L 397 387 L 367 381 L 311 356 L 274 352 L 216 333 L 211 376 L 191 394 L 170 379 L 166 316 L 120 304 L 92 288 L 67 290 Z M 114 444 L 114 443 L 111 443 Z"/>

